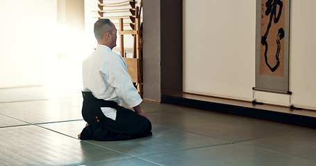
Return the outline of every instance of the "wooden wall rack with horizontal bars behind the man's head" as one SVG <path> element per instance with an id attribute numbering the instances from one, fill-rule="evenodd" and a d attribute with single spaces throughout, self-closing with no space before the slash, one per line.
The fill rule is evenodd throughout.
<path id="1" fill-rule="evenodd" d="M 135 0 L 119 3 L 104 3 L 103 0 L 99 0 L 98 7 L 100 10 L 94 12 L 99 13 L 100 17 L 98 19 L 119 19 L 119 24 L 115 24 L 115 26 L 119 26 L 120 54 L 126 62 L 128 74 L 131 75 L 133 83 L 142 97 L 142 53 L 140 52 L 140 35 L 142 35 L 142 31 L 140 30 L 140 13 L 142 10 L 142 0 L 140 1 L 140 7 L 137 6 L 135 8 L 135 3 Z M 122 8 L 119 8 L 121 6 Z M 126 8 L 126 6 L 130 7 Z M 107 10 L 104 10 L 103 7 L 106 7 Z M 109 7 L 115 7 L 115 9 L 108 10 Z M 131 15 L 119 15 L 119 12 L 130 12 Z M 117 15 L 106 16 L 108 13 L 117 13 Z M 129 19 L 130 22 L 124 23 L 124 19 Z M 131 26 L 132 30 L 124 30 L 124 26 Z M 133 58 L 128 58 L 124 55 L 124 35 L 133 35 Z"/>

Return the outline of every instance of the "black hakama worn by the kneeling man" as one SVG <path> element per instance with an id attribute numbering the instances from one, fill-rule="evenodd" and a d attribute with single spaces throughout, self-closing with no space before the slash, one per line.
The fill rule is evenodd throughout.
<path id="1" fill-rule="evenodd" d="M 101 107 L 116 109 L 116 120 L 104 116 Z M 89 125 L 81 132 L 81 140 L 130 140 L 152 134 L 147 118 L 116 102 L 94 98 L 91 92 L 83 92 L 82 115 Z"/>

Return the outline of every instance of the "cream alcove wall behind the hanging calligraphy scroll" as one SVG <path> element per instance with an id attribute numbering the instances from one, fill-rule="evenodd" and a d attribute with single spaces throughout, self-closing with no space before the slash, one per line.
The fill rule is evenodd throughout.
<path id="1" fill-rule="evenodd" d="M 252 100 L 255 86 L 256 1 L 183 0 L 183 91 Z M 313 0 L 292 0 L 290 91 L 296 107 L 316 109 L 316 19 Z M 255 93 L 288 106 L 289 96 Z"/>

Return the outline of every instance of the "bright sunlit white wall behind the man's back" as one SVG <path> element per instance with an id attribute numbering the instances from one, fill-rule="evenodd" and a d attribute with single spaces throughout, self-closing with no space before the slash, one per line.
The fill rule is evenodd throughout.
<path id="1" fill-rule="evenodd" d="M 82 86 L 83 8 L 83 0 L 0 0 L 0 88 Z"/>

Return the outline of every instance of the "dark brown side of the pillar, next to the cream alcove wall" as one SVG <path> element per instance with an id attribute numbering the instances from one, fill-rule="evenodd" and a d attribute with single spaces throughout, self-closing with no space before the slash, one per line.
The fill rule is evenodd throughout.
<path id="1" fill-rule="evenodd" d="M 161 0 L 161 93 L 183 91 L 183 2 Z"/>

